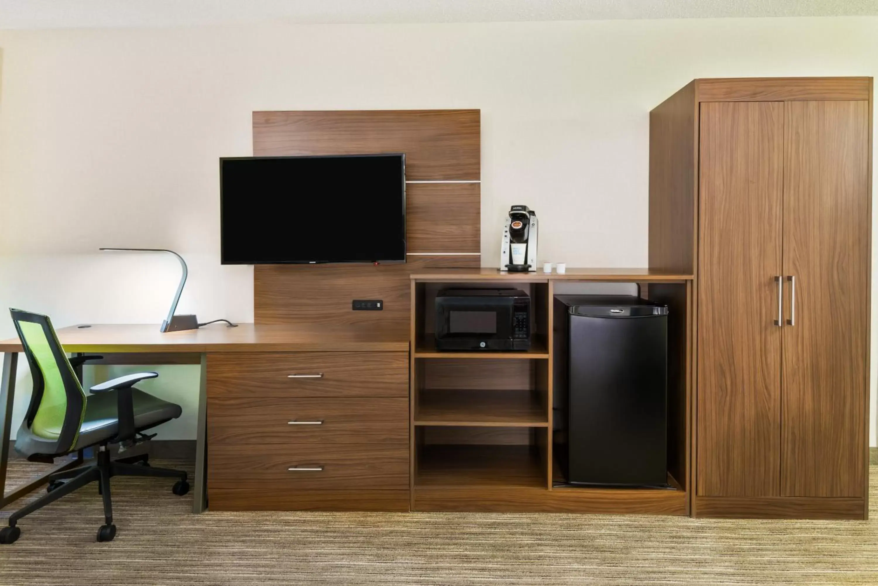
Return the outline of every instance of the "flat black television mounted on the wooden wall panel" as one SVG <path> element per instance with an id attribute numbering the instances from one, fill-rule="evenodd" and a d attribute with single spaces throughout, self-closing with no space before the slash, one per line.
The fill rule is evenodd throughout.
<path id="1" fill-rule="evenodd" d="M 406 156 L 219 160 L 222 264 L 406 260 Z"/>

